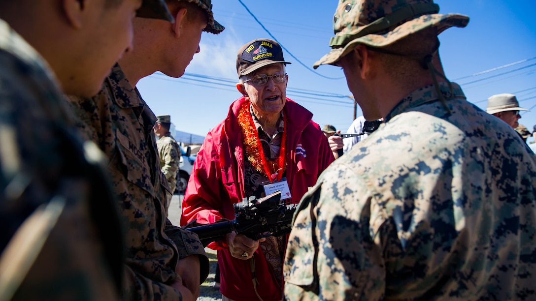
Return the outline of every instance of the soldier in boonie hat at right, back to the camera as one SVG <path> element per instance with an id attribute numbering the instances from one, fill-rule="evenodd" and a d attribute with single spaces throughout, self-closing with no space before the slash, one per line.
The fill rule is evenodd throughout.
<path id="1" fill-rule="evenodd" d="M 300 202 L 288 300 L 527 299 L 536 162 L 510 125 L 446 79 L 437 35 L 468 17 L 431 0 L 341 0 L 321 64 L 384 123 Z"/>

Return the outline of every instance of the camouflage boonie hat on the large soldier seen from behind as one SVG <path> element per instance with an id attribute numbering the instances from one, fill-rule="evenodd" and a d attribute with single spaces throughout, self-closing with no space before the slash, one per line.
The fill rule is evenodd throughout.
<path id="1" fill-rule="evenodd" d="M 382 48 L 430 26 L 441 33 L 469 22 L 469 17 L 461 14 L 438 12 L 439 5 L 431 0 L 340 0 L 333 17 L 331 51 L 314 68 L 337 65 L 360 43 Z"/>

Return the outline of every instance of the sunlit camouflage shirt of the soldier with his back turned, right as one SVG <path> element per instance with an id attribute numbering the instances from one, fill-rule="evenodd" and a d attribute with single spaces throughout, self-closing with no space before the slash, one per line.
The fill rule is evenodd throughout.
<path id="1" fill-rule="evenodd" d="M 293 299 L 528 299 L 536 162 L 507 124 L 440 84 L 406 96 L 300 203 Z"/>

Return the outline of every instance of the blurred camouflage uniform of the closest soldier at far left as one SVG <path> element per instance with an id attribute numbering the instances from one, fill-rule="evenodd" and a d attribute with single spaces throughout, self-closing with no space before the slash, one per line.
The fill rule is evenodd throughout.
<path id="1" fill-rule="evenodd" d="M 0 300 L 118 299 L 103 155 L 75 133 L 53 71 L 0 19 Z"/>

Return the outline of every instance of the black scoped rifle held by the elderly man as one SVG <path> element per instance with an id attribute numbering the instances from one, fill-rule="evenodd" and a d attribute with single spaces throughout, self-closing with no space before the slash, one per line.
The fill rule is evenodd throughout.
<path id="1" fill-rule="evenodd" d="M 296 208 L 295 205 L 281 204 L 280 191 L 259 199 L 254 196 L 243 198 L 233 206 L 235 219 L 232 221 L 222 219 L 212 224 L 198 224 L 193 220 L 184 229 L 197 234 L 205 247 L 221 240 L 231 231 L 256 240 L 291 232 L 292 216 Z"/>

